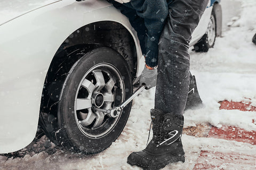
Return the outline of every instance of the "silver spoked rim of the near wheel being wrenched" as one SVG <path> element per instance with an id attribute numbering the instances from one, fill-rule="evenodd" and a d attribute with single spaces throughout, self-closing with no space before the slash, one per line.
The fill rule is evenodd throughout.
<path id="1" fill-rule="evenodd" d="M 117 124 L 120 116 L 113 118 L 92 107 L 111 109 L 125 98 L 121 73 L 114 65 L 100 63 L 86 72 L 75 96 L 75 117 L 78 128 L 89 138 L 102 138 Z"/>

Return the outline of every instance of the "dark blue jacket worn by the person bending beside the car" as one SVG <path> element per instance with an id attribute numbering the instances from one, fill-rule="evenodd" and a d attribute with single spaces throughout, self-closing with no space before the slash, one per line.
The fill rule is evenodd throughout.
<path id="1" fill-rule="evenodd" d="M 120 4 L 114 0 L 108 1 L 129 18 L 131 25 L 137 31 L 142 53 L 146 56 L 146 64 L 150 67 L 157 66 L 159 38 L 169 14 L 168 4 L 170 2 L 131 0 Z"/>

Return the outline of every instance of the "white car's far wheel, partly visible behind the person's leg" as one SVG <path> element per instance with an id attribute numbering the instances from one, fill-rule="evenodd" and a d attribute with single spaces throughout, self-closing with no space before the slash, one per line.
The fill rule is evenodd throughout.
<path id="1" fill-rule="evenodd" d="M 214 10 L 212 10 L 210 22 L 208 24 L 205 35 L 194 45 L 196 52 L 208 52 L 209 48 L 213 48 L 216 38 L 216 18 Z"/>

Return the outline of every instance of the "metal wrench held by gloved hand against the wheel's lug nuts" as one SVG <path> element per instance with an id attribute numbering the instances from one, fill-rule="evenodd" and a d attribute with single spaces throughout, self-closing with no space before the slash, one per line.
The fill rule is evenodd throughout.
<path id="1" fill-rule="evenodd" d="M 137 90 L 134 91 L 131 97 L 127 98 L 120 106 L 113 107 L 113 109 L 101 109 L 98 107 L 93 107 L 92 110 L 107 113 L 111 117 L 117 117 L 123 110 L 125 106 L 127 106 L 132 99 L 134 99 L 143 89 L 145 89 L 145 85 L 141 85 Z"/>

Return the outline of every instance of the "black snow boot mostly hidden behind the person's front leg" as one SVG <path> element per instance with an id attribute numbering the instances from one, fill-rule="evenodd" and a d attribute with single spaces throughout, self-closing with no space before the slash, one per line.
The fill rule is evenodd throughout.
<path id="1" fill-rule="evenodd" d="M 202 100 L 198 94 L 197 86 L 196 86 L 196 78 L 195 75 L 189 76 L 189 90 L 188 90 L 188 98 L 186 103 L 186 109 L 198 107 L 202 105 Z"/>

